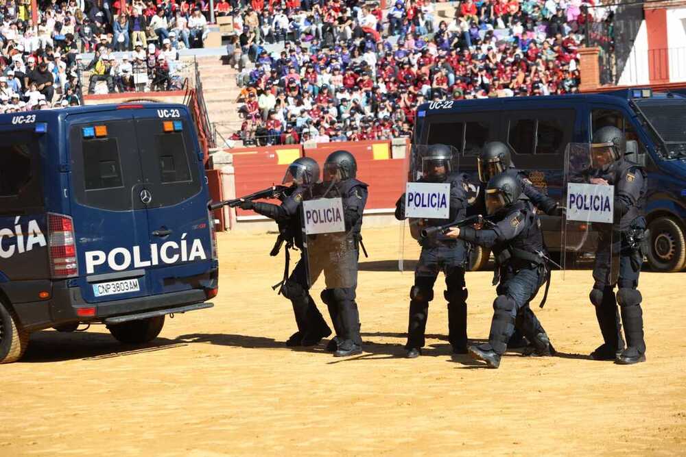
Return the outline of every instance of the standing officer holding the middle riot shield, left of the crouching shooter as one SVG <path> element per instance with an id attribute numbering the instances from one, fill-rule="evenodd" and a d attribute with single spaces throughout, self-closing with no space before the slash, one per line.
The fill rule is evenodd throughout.
<path id="1" fill-rule="evenodd" d="M 464 219 L 467 207 L 467 175 L 451 170 L 452 151 L 446 145 L 431 145 L 421 157 L 423 176 L 418 182 L 450 184 L 449 219 L 426 219 L 425 226 L 438 226 Z M 405 194 L 396 203 L 395 217 L 405 219 Z M 414 286 L 410 289 L 410 323 L 407 325 L 407 358 L 421 355 L 429 301 L 434 299 L 434 283 L 438 273 L 445 273 L 444 297 L 448 301 L 448 339 L 453 354 L 466 354 L 467 346 L 467 289 L 464 282 L 466 246 L 462 240 L 434 234 L 418 238 L 422 247 L 414 271 Z"/>

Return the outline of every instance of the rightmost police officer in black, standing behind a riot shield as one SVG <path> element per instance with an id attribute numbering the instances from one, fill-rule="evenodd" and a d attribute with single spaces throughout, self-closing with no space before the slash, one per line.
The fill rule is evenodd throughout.
<path id="1" fill-rule="evenodd" d="M 638 282 L 643 263 L 641 245 L 646 239 L 643 211 L 648 182 L 643 168 L 626 160 L 624 153 L 626 140 L 617 127 L 602 127 L 593 134 L 590 181 L 593 184 L 615 186 L 615 221 L 612 230 L 599 232 L 600 239 L 595 252 L 595 284 L 590 299 L 595 306 L 595 316 L 598 318 L 604 343 L 593 351 L 591 357 L 629 365 L 646 360 L 642 297 L 638 291 Z M 613 265 L 613 258 L 617 258 L 617 253 L 619 265 Z M 615 284 L 618 286 L 616 297 Z M 624 323 L 626 349 L 622 340 L 617 303 Z"/>

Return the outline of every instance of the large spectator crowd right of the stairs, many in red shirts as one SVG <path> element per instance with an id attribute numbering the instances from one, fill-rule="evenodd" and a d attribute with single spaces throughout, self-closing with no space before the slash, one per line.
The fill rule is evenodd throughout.
<path id="1" fill-rule="evenodd" d="M 429 0 L 386 10 L 357 0 L 231 0 L 238 33 L 228 53 L 241 70 L 244 118 L 233 139 L 397 138 L 412 135 L 425 101 L 577 92 L 577 49 L 606 14 L 582 0 L 452 5 L 454 16 L 440 18 Z"/>

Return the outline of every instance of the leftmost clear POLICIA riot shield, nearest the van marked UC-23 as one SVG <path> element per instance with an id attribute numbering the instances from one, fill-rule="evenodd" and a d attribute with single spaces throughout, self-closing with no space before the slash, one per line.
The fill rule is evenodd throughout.
<path id="1" fill-rule="evenodd" d="M 309 286 L 322 275 L 326 288 L 355 286 L 357 249 L 353 235 L 346 233 L 343 199 L 335 184 L 324 182 L 308 188 L 301 217 Z"/>

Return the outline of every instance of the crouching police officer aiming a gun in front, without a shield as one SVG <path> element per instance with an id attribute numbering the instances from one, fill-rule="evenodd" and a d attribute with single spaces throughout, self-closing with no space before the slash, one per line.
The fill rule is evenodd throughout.
<path id="1" fill-rule="evenodd" d="M 498 297 L 493 302 L 493 321 L 488 343 L 470 346 L 469 354 L 497 368 L 514 333 L 517 314 L 531 301 L 547 277 L 545 248 L 539 217 L 531 203 L 522 198 L 516 176 L 500 173 L 486 187 L 486 210 L 492 221 L 488 228 L 452 227 L 447 236 L 493 249 Z M 495 282 L 495 280 L 494 280 Z M 549 340 L 531 312 L 521 324 L 524 336 L 540 355 L 549 354 Z"/>

